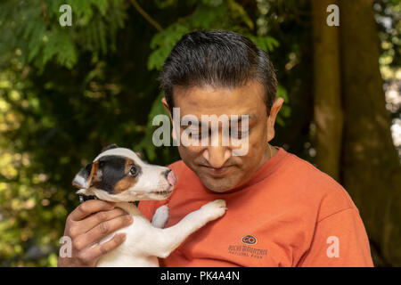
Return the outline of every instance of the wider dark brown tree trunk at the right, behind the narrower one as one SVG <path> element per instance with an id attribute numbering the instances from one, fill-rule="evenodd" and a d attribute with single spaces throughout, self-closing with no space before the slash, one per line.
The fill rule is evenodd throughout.
<path id="1" fill-rule="evenodd" d="M 391 139 L 372 0 L 340 1 L 345 110 L 342 184 L 354 199 L 375 265 L 401 265 L 401 166 Z"/>

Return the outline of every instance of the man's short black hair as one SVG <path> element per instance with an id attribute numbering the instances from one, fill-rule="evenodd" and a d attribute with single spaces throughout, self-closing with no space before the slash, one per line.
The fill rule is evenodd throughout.
<path id="1" fill-rule="evenodd" d="M 174 86 L 237 87 L 250 79 L 264 86 L 269 115 L 277 79 L 267 53 L 248 37 L 231 31 L 194 31 L 184 35 L 168 55 L 160 74 L 160 87 L 172 112 Z"/>

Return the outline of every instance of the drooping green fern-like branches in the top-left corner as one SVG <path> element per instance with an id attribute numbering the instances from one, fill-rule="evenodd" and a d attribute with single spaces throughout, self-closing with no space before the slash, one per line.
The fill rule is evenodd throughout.
<path id="1" fill-rule="evenodd" d="M 61 4 L 73 7 L 71 27 L 59 24 Z M 72 69 L 78 48 L 92 53 L 115 51 L 115 36 L 125 17 L 122 0 L 6 0 L 0 11 L 2 44 L 4 51 L 17 53 L 22 64 L 43 70 L 54 60 Z"/>

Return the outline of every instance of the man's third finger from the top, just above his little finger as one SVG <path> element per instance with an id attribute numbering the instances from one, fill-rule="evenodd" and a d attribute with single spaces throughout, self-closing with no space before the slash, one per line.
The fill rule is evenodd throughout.
<path id="1" fill-rule="evenodd" d="M 82 250 L 87 246 L 94 244 L 102 240 L 105 236 L 111 232 L 116 232 L 117 230 L 126 227 L 133 222 L 133 217 L 130 215 L 123 215 L 113 218 L 109 221 L 102 222 L 96 225 L 93 229 L 85 234 L 81 234 L 73 241 L 74 248 Z"/>

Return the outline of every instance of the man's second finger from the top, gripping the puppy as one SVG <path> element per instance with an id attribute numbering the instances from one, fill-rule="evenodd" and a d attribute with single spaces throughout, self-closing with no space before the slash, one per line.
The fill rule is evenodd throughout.
<path id="1" fill-rule="evenodd" d="M 97 212 L 79 221 L 79 223 L 71 225 L 70 235 L 71 237 L 77 237 L 79 234 L 83 234 L 93 229 L 98 224 L 112 220 L 118 216 L 125 216 L 125 215 L 127 215 L 127 212 L 124 211 L 122 208 L 113 208 L 109 211 Z"/>

